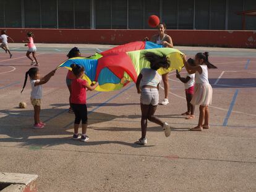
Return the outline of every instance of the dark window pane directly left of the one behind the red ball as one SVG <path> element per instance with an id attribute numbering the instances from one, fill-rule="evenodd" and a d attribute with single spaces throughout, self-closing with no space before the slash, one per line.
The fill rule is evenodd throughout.
<path id="1" fill-rule="evenodd" d="M 129 0 L 130 29 L 143 28 L 143 0 Z"/>

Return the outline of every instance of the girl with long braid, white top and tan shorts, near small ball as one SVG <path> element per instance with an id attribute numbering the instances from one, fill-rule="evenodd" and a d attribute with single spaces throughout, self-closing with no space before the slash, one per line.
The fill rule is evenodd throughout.
<path id="1" fill-rule="evenodd" d="M 40 121 L 40 108 L 41 108 L 41 99 L 42 99 L 42 87 L 41 85 L 47 83 L 49 79 L 54 75 L 56 69 L 49 72 L 48 75 L 45 75 L 43 78 L 39 78 L 39 73 L 38 73 L 38 68 L 37 67 L 32 67 L 30 68 L 25 75 L 25 81 L 24 85 L 22 88 L 22 91 L 24 90 L 26 83 L 27 83 L 27 78 L 28 76 L 30 77 L 30 84 L 31 84 L 31 103 L 34 107 L 34 120 L 35 124 L 33 128 L 44 128 L 45 123 Z M 21 91 L 21 93 L 22 93 Z"/>

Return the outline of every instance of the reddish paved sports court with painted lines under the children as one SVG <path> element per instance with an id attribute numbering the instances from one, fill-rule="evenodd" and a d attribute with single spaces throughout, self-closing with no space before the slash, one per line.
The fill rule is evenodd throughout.
<path id="1" fill-rule="evenodd" d="M 41 75 L 66 60 L 70 48 L 82 56 L 114 46 L 36 44 Z M 23 44 L 9 44 L 13 57 L 0 51 L 0 170 L 38 175 L 39 191 L 256 191 L 256 50 L 176 47 L 187 57 L 210 52 L 218 69 L 209 70 L 213 86 L 210 129 L 189 131 L 198 122 L 186 111 L 184 85 L 169 73 L 169 104 L 156 115 L 174 127 L 148 123 L 148 144 L 140 138 L 140 96 L 133 82 L 119 91 L 88 91 L 86 143 L 71 140 L 74 114 L 68 113 L 67 69 L 43 85 L 41 120 L 34 130 L 30 84 L 22 94 L 30 61 Z M 181 75 L 185 74 L 183 69 Z M 163 86 L 163 85 L 162 85 Z M 160 101 L 164 92 L 160 89 Z M 19 109 L 20 101 L 27 103 Z"/>

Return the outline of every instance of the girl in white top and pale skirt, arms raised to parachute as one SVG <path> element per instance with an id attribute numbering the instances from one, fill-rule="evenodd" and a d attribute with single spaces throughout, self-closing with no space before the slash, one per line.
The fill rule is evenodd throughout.
<path id="1" fill-rule="evenodd" d="M 208 105 L 211 104 L 213 94 L 213 89 L 208 81 L 207 68 L 216 69 L 217 67 L 208 61 L 208 52 L 198 52 L 195 55 L 195 67 L 187 64 L 186 56 L 183 57 L 183 62 L 189 74 L 195 73 L 195 91 L 190 102 L 194 106 L 199 105 L 200 110 L 198 125 L 190 130 L 202 131 L 203 128 L 210 128 Z"/>

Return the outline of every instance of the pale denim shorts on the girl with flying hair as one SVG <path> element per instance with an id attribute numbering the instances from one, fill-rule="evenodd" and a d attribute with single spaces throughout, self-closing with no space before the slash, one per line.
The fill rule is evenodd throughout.
<path id="1" fill-rule="evenodd" d="M 158 102 L 159 93 L 157 88 L 142 88 L 142 93 L 140 94 L 140 103 L 157 106 Z"/>

